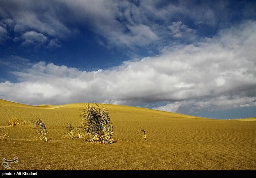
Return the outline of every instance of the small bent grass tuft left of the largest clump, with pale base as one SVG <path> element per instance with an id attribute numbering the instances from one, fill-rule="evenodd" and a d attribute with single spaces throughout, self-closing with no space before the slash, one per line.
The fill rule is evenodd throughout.
<path id="1" fill-rule="evenodd" d="M 36 131 L 36 138 L 34 140 L 37 140 L 38 138 L 41 139 L 42 141 L 45 140 L 47 141 L 47 128 L 44 120 L 39 119 L 36 117 L 36 120 L 31 120 L 31 123 L 34 125 L 34 128 L 37 129 Z M 39 136 L 38 136 L 39 135 Z"/>

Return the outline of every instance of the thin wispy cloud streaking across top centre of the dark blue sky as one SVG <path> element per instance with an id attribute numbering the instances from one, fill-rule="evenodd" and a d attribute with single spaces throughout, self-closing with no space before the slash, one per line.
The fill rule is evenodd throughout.
<path id="1" fill-rule="evenodd" d="M 170 42 L 183 38 L 186 40 L 195 39 L 195 30 L 182 24 L 180 21 L 174 23 L 179 32 L 170 33 L 173 19 L 187 17 L 193 23 L 201 17 L 203 24 L 215 24 L 213 10 L 208 4 L 199 6 L 196 11 L 185 4 L 174 5 L 167 3 L 161 6 L 161 2 L 130 2 L 130 1 L 70 1 L 61 0 L 61 3 L 73 12 L 72 19 L 80 24 L 90 25 L 95 32 L 105 37 L 108 46 L 118 48 L 140 49 L 151 47 L 157 50 L 168 45 Z M 192 3 L 193 4 L 193 3 Z M 206 10 L 203 7 L 206 7 Z M 202 7 L 202 9 L 201 9 Z M 200 14 L 200 17 L 197 17 Z M 168 28 L 169 27 L 169 28 Z M 174 29 L 173 29 L 174 30 Z M 175 31 L 174 30 L 174 31 Z M 173 32 L 174 32 L 173 31 Z M 165 42 L 163 42 L 165 41 Z"/>

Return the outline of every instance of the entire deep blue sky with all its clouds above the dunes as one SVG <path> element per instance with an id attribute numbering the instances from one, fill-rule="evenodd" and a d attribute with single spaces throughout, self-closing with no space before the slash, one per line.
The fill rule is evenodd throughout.
<path id="1" fill-rule="evenodd" d="M 1 0 L 0 99 L 256 116 L 256 1 Z"/>

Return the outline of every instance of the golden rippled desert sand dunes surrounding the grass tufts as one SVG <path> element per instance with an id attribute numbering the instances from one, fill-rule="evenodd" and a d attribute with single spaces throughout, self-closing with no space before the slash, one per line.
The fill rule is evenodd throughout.
<path id="1" fill-rule="evenodd" d="M 206 119 L 172 112 L 106 104 L 114 144 L 96 144 L 64 135 L 66 122 L 79 123 L 83 103 L 30 106 L 0 99 L 0 126 L 18 117 L 42 117 L 49 141 L 33 140 L 31 124 L 8 126 L 0 135 L 0 159 L 9 170 L 255 170 L 256 118 Z M 141 140 L 139 127 L 148 140 Z M 0 170 L 7 170 L 2 165 Z"/>

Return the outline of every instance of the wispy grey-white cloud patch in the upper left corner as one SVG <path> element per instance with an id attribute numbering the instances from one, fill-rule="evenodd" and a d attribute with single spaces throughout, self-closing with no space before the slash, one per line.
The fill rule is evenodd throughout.
<path id="1" fill-rule="evenodd" d="M 4 35 L 8 31 L 14 31 L 13 41 L 18 42 L 22 39 L 22 45 L 41 46 L 49 39 L 50 43 L 46 47 L 59 47 L 56 38 L 66 39 L 77 33 L 75 28 L 69 28 L 65 24 L 61 3 L 3 0 L 1 6 L 3 8 L 0 9 L 0 14 L 3 19 L 0 22 L 6 25 Z M 0 27 L 0 40 L 2 32 L 3 29 Z"/>

